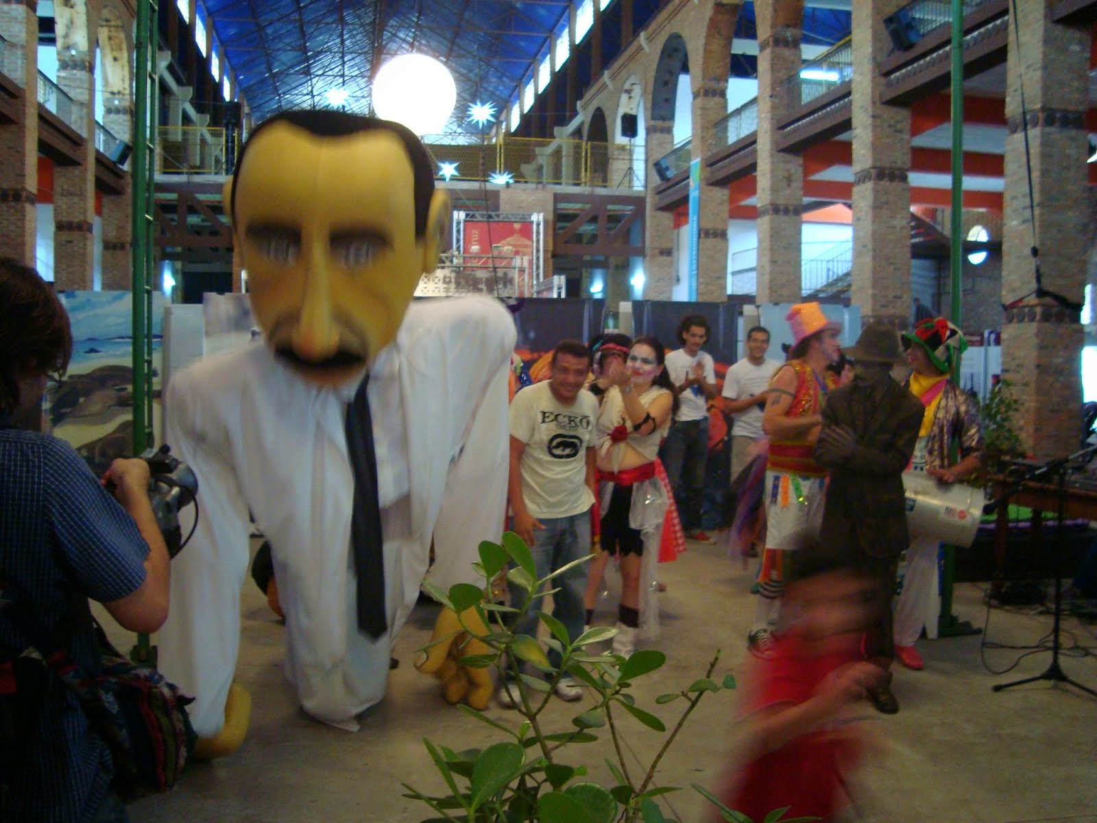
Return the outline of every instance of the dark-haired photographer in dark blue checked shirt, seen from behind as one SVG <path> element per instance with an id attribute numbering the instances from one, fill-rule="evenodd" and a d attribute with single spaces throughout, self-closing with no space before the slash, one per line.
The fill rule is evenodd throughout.
<path id="1" fill-rule="evenodd" d="M 125 821 L 113 764 L 77 698 L 34 669 L 35 627 L 94 676 L 100 659 L 87 600 L 133 631 L 168 613 L 168 551 L 140 460 L 102 481 L 57 438 L 14 428 L 42 402 L 72 352 L 68 315 L 49 284 L 0 260 L 0 819 Z M 103 486 L 113 484 L 112 497 Z M 118 505 L 121 504 L 121 506 Z"/>

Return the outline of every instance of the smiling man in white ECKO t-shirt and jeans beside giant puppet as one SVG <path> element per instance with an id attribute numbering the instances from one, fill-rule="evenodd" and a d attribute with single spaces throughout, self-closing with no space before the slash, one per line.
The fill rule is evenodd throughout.
<path id="1" fill-rule="evenodd" d="M 593 448 L 598 401 L 583 385 L 590 372 L 590 350 L 578 340 L 563 340 L 553 350 L 551 376 L 527 386 L 510 404 L 510 478 L 508 496 L 514 532 L 533 552 L 538 578 L 590 554 L 590 507 L 595 503 Z M 583 596 L 589 564 L 553 578 L 553 616 L 574 641 L 586 617 Z M 511 602 L 520 607 L 525 590 L 511 586 Z M 540 604 L 540 601 L 538 601 Z M 536 634 L 536 608 L 519 616 L 514 634 Z M 559 654 L 548 659 L 559 667 Z M 556 686 L 563 700 L 578 700 L 583 689 L 565 676 Z M 497 699 L 512 708 L 518 694 L 509 680 Z"/>

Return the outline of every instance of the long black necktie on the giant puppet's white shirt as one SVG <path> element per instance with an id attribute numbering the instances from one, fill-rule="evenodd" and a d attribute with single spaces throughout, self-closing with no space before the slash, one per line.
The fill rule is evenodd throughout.
<path id="1" fill-rule="evenodd" d="M 372 638 L 385 633 L 385 560 L 377 501 L 377 455 L 373 449 L 373 420 L 365 388 L 370 375 L 347 406 L 347 452 L 354 472 L 354 511 L 350 542 L 358 577 L 358 628 Z"/>

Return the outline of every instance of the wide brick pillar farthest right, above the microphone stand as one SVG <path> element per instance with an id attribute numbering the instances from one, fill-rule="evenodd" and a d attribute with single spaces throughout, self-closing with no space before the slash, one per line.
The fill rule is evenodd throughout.
<path id="1" fill-rule="evenodd" d="M 1009 26 L 1006 66 L 1006 177 L 1002 301 L 1036 286 L 1029 247 L 1040 250 L 1043 286 L 1082 303 L 1087 226 L 1085 114 L 1089 31 L 1054 24 L 1049 3 L 1018 3 L 1021 42 Z M 1018 76 L 1025 83 L 1036 198 L 1036 239 L 1029 211 Z M 1082 403 L 1079 314 L 1029 296 L 1006 312 L 1003 376 L 1019 401 L 1014 420 L 1038 459 L 1068 454 L 1078 444 Z"/>

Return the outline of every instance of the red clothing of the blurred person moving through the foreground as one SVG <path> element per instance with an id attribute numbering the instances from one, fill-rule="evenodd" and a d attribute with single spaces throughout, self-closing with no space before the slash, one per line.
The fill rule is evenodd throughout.
<path id="1" fill-rule="evenodd" d="M 856 642 L 819 654 L 799 636 L 778 638 L 772 658 L 758 663 L 757 687 L 746 710 L 804 702 L 828 673 L 861 659 L 857 652 Z M 790 804 L 788 818 L 833 820 L 845 805 L 842 771 L 859 755 L 860 746 L 848 733 L 824 729 L 802 734 L 747 764 L 724 802 L 751 820 Z"/>

